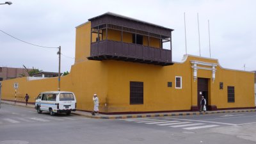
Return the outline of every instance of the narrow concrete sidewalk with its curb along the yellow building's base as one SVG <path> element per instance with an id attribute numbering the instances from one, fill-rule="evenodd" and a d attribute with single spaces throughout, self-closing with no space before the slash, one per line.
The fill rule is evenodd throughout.
<path id="1" fill-rule="evenodd" d="M 26 104 L 7 100 L 1 100 L 3 104 L 11 104 L 13 106 L 23 106 L 28 108 L 35 108 L 33 104 Z M 127 114 L 127 115 L 104 115 L 99 114 L 92 116 L 92 113 L 86 111 L 72 111 L 73 115 L 85 116 L 87 118 L 101 118 L 101 119 L 121 119 L 121 118 L 146 118 L 146 117 L 157 117 L 157 116 L 183 116 L 183 115 L 205 115 L 214 113 L 239 113 L 239 112 L 255 112 L 255 109 L 230 109 L 230 110 L 220 110 L 220 111 L 206 111 L 206 113 L 200 113 L 198 111 L 187 111 L 187 112 L 170 112 L 170 113 L 143 113 L 143 114 Z"/>

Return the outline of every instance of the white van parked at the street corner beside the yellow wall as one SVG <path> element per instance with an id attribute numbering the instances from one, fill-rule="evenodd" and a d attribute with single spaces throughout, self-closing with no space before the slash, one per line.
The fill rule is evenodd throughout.
<path id="1" fill-rule="evenodd" d="M 37 113 L 49 111 L 50 115 L 55 113 L 67 113 L 76 111 L 76 97 L 72 92 L 42 92 L 38 95 L 35 102 Z"/>

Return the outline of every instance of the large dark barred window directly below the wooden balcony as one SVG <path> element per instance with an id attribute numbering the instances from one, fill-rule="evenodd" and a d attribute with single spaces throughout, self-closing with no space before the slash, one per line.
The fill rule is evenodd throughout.
<path id="1" fill-rule="evenodd" d="M 143 104 L 143 82 L 130 81 L 130 104 Z"/>

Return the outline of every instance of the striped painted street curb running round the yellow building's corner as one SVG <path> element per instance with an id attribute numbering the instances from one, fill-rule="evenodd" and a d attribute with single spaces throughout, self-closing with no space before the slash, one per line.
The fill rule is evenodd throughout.
<path id="1" fill-rule="evenodd" d="M 11 104 L 9 102 L 5 102 L 2 100 L 3 104 L 10 104 L 13 106 L 22 106 L 20 104 Z M 26 108 L 34 108 L 32 106 L 22 106 Z M 223 110 L 223 111 L 207 111 L 205 113 L 202 112 L 188 112 L 188 113 L 160 113 L 160 114 L 141 114 L 141 115 L 116 115 L 116 116 L 92 116 L 81 113 L 73 112 L 72 115 L 84 116 L 86 118 L 97 118 L 97 119 L 125 119 L 125 118 L 153 118 L 153 117 L 163 117 L 163 116 L 189 116 L 189 115 L 207 115 L 207 114 L 216 114 L 216 113 L 244 113 L 244 112 L 256 112 L 256 109 L 237 109 L 237 110 Z"/>

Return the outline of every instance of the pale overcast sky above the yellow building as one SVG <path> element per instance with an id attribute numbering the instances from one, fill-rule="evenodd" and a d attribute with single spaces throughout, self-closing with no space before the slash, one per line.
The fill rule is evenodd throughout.
<path id="1" fill-rule="evenodd" d="M 118 13 L 174 29 L 173 61 L 181 61 L 185 48 L 184 12 L 188 54 L 199 56 L 197 13 L 199 13 L 201 56 L 224 68 L 256 70 L 256 1 L 82 1 L 8 0 L 0 5 L 0 29 L 26 42 L 46 47 L 61 45 L 61 72 L 74 64 L 76 26 L 106 12 Z M 5 1 L 0 0 L 0 3 Z M 0 31 L 0 67 L 39 68 L 58 72 L 58 49 L 28 45 Z"/>

